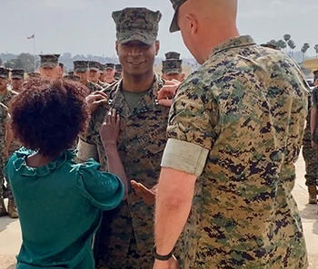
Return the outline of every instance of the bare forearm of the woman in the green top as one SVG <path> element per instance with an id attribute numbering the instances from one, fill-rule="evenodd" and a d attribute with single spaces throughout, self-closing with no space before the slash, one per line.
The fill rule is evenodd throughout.
<path id="1" fill-rule="evenodd" d="M 124 171 L 123 162 L 120 159 L 116 145 L 104 147 L 107 157 L 108 172 L 117 175 L 124 183 L 124 198 L 128 195 L 128 180 Z"/>

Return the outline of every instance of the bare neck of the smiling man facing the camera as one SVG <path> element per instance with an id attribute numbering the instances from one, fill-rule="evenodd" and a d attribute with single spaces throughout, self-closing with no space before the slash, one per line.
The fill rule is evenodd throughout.
<path id="1" fill-rule="evenodd" d="M 151 88 L 154 83 L 154 70 L 141 75 L 131 75 L 124 72 L 123 90 L 132 92 L 143 92 Z"/>

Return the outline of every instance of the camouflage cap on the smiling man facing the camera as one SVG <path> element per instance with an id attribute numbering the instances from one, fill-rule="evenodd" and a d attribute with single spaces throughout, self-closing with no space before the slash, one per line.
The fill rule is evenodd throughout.
<path id="1" fill-rule="evenodd" d="M 160 11 L 154 12 L 144 7 L 127 7 L 124 10 L 113 12 L 117 41 L 119 43 L 140 41 L 148 45 L 154 44 L 161 17 Z"/>

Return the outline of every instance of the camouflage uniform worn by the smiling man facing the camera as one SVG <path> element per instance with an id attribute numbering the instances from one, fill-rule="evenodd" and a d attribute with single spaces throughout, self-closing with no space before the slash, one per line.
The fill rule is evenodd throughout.
<path id="1" fill-rule="evenodd" d="M 164 82 L 156 75 L 153 88 L 144 95 L 134 110 L 130 110 L 121 92 L 122 81 L 107 90 L 108 105 L 94 112 L 86 142 L 95 145 L 99 162 L 107 170 L 104 147 L 99 130 L 110 108 L 121 116 L 118 150 L 128 179 L 145 187 L 154 187 L 160 174 L 160 162 L 166 143 L 169 108 L 158 105 L 157 92 Z M 83 154 L 81 154 L 83 156 Z M 147 206 L 129 189 L 124 202 L 111 213 L 105 213 L 97 249 L 98 264 L 103 268 L 152 268 L 154 258 L 154 206 Z M 131 266 L 131 267 L 130 267 Z"/>

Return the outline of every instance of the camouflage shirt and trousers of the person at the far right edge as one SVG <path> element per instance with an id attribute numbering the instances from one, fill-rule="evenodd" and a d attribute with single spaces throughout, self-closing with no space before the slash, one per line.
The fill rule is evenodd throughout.
<path id="1" fill-rule="evenodd" d="M 315 91 L 312 91 L 314 98 L 318 98 L 318 87 L 315 88 Z M 317 99 L 318 100 L 318 99 Z M 303 159 L 305 163 L 306 174 L 306 186 L 317 186 L 318 183 L 318 150 L 313 149 L 312 147 L 312 132 L 310 128 L 311 122 L 311 96 L 308 99 L 308 114 L 306 119 L 306 128 L 304 129 L 303 134 Z"/>

